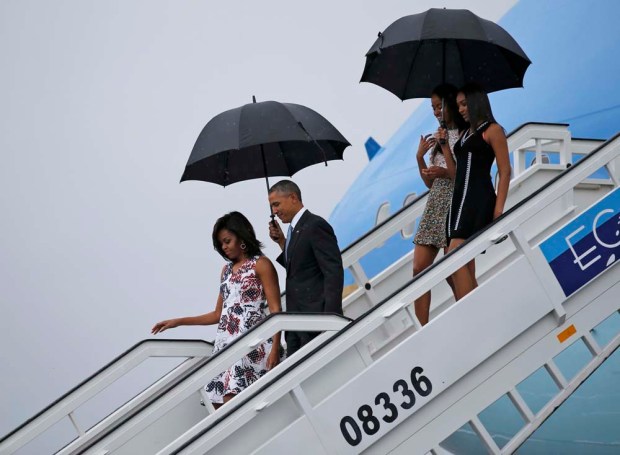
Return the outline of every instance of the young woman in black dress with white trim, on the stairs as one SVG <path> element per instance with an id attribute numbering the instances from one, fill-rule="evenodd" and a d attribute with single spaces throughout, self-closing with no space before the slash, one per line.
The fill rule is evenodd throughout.
<path id="1" fill-rule="evenodd" d="M 508 141 L 493 117 L 487 94 L 478 85 L 468 84 L 459 90 L 456 102 L 469 125 L 454 146 L 456 161 L 446 159 L 448 171 L 456 175 L 448 212 L 448 251 L 458 248 L 504 212 L 510 184 Z M 445 135 L 445 131 L 441 134 Z M 497 162 L 499 175 L 497 194 L 491 180 L 493 161 Z M 474 261 L 452 275 L 457 300 L 477 286 Z"/>

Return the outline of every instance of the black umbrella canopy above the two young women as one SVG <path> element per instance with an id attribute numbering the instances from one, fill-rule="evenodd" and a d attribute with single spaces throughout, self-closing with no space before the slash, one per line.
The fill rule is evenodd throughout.
<path id="1" fill-rule="evenodd" d="M 366 54 L 360 82 L 401 100 L 428 98 L 441 83 L 487 92 L 523 87 L 530 59 L 499 25 L 464 9 L 432 8 L 392 23 Z"/>

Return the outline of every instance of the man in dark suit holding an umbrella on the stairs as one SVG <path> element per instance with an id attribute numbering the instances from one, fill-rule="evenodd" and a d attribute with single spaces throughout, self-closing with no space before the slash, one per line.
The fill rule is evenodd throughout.
<path id="1" fill-rule="evenodd" d="M 287 236 L 276 221 L 269 223 L 269 237 L 282 248 L 276 260 L 286 268 L 286 310 L 342 314 L 344 272 L 334 230 L 304 207 L 299 187 L 290 180 L 269 189 L 269 204 L 280 221 L 289 223 Z M 287 354 L 317 335 L 287 332 Z"/>

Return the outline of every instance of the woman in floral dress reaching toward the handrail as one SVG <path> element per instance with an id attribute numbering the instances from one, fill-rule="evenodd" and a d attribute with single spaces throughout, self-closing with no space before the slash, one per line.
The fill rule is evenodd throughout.
<path id="1" fill-rule="evenodd" d="M 231 212 L 213 228 L 213 246 L 228 262 L 222 269 L 215 310 L 200 316 L 158 322 L 153 334 L 181 325 L 218 324 L 213 353 L 247 332 L 268 313 L 281 311 L 278 275 L 261 252 L 248 219 Z M 207 396 L 218 408 L 248 387 L 280 361 L 280 333 L 235 362 L 205 386 Z"/>

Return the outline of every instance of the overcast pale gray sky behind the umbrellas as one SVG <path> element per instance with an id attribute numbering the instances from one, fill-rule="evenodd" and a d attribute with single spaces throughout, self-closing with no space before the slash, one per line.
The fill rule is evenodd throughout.
<path id="1" fill-rule="evenodd" d="M 344 162 L 294 178 L 328 217 L 367 137 L 384 143 L 417 106 L 358 83 L 377 32 L 430 7 L 497 20 L 514 3 L 2 0 L 0 435 L 154 322 L 210 311 L 222 214 L 245 213 L 276 256 L 264 181 L 179 184 L 209 119 L 255 95 L 330 120 L 353 144 Z"/>

